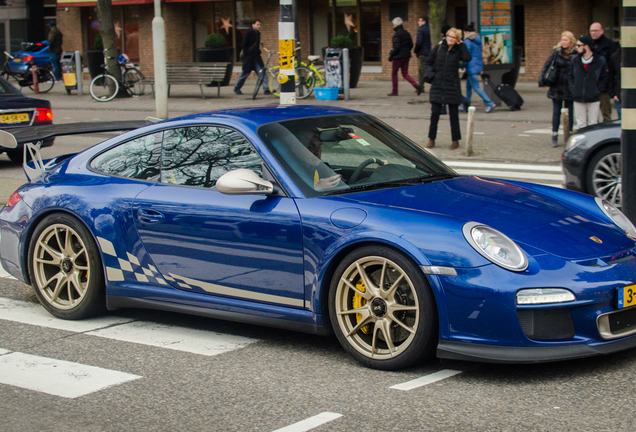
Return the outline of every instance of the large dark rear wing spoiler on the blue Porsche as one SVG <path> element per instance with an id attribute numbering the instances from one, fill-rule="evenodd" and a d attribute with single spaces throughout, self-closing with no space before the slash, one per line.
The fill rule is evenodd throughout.
<path id="1" fill-rule="evenodd" d="M 0 130 L 0 147 L 14 149 L 20 145 L 24 146 L 22 167 L 29 181 L 32 181 L 46 171 L 46 165 L 44 165 L 40 155 L 40 143 L 45 139 L 64 135 L 133 130 L 158 120 L 149 117 L 146 120 L 64 123 L 34 126 L 14 133 Z M 32 163 L 27 163 L 28 160 L 31 160 Z"/>

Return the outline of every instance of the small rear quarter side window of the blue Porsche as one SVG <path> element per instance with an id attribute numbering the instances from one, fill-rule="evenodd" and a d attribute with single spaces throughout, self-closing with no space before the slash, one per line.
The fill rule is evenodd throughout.
<path id="1" fill-rule="evenodd" d="M 159 180 L 163 132 L 127 141 L 97 156 L 91 168 L 103 174 L 139 180 Z"/>

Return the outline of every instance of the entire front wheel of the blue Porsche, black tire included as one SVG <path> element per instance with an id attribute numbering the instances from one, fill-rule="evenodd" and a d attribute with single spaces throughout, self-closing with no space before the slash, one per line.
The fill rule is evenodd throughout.
<path id="1" fill-rule="evenodd" d="M 373 369 L 411 366 L 432 356 L 437 345 L 437 308 L 424 274 L 385 246 L 357 249 L 338 265 L 329 316 L 345 350 Z"/>

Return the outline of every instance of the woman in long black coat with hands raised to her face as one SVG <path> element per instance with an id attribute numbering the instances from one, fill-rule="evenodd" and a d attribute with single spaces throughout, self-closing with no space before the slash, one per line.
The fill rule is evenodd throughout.
<path id="1" fill-rule="evenodd" d="M 429 100 L 431 102 L 431 124 L 428 129 L 426 148 L 435 147 L 437 123 L 442 105 L 448 105 L 451 122 L 451 150 L 459 147 L 462 139 L 459 130 L 459 114 L 457 108 L 462 103 L 462 88 L 459 80 L 459 62 L 472 59 L 468 48 L 462 43 L 462 32 L 451 28 L 446 32 L 446 39 L 431 51 L 426 60 L 427 70 L 432 70 L 433 80 Z"/>

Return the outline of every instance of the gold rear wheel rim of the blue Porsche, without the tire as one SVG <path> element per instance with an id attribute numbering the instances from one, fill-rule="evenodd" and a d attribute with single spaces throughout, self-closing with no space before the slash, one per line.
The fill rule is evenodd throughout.
<path id="1" fill-rule="evenodd" d="M 82 238 L 67 225 L 54 224 L 38 237 L 33 254 L 37 287 L 56 309 L 77 307 L 90 282 L 89 254 Z"/>

